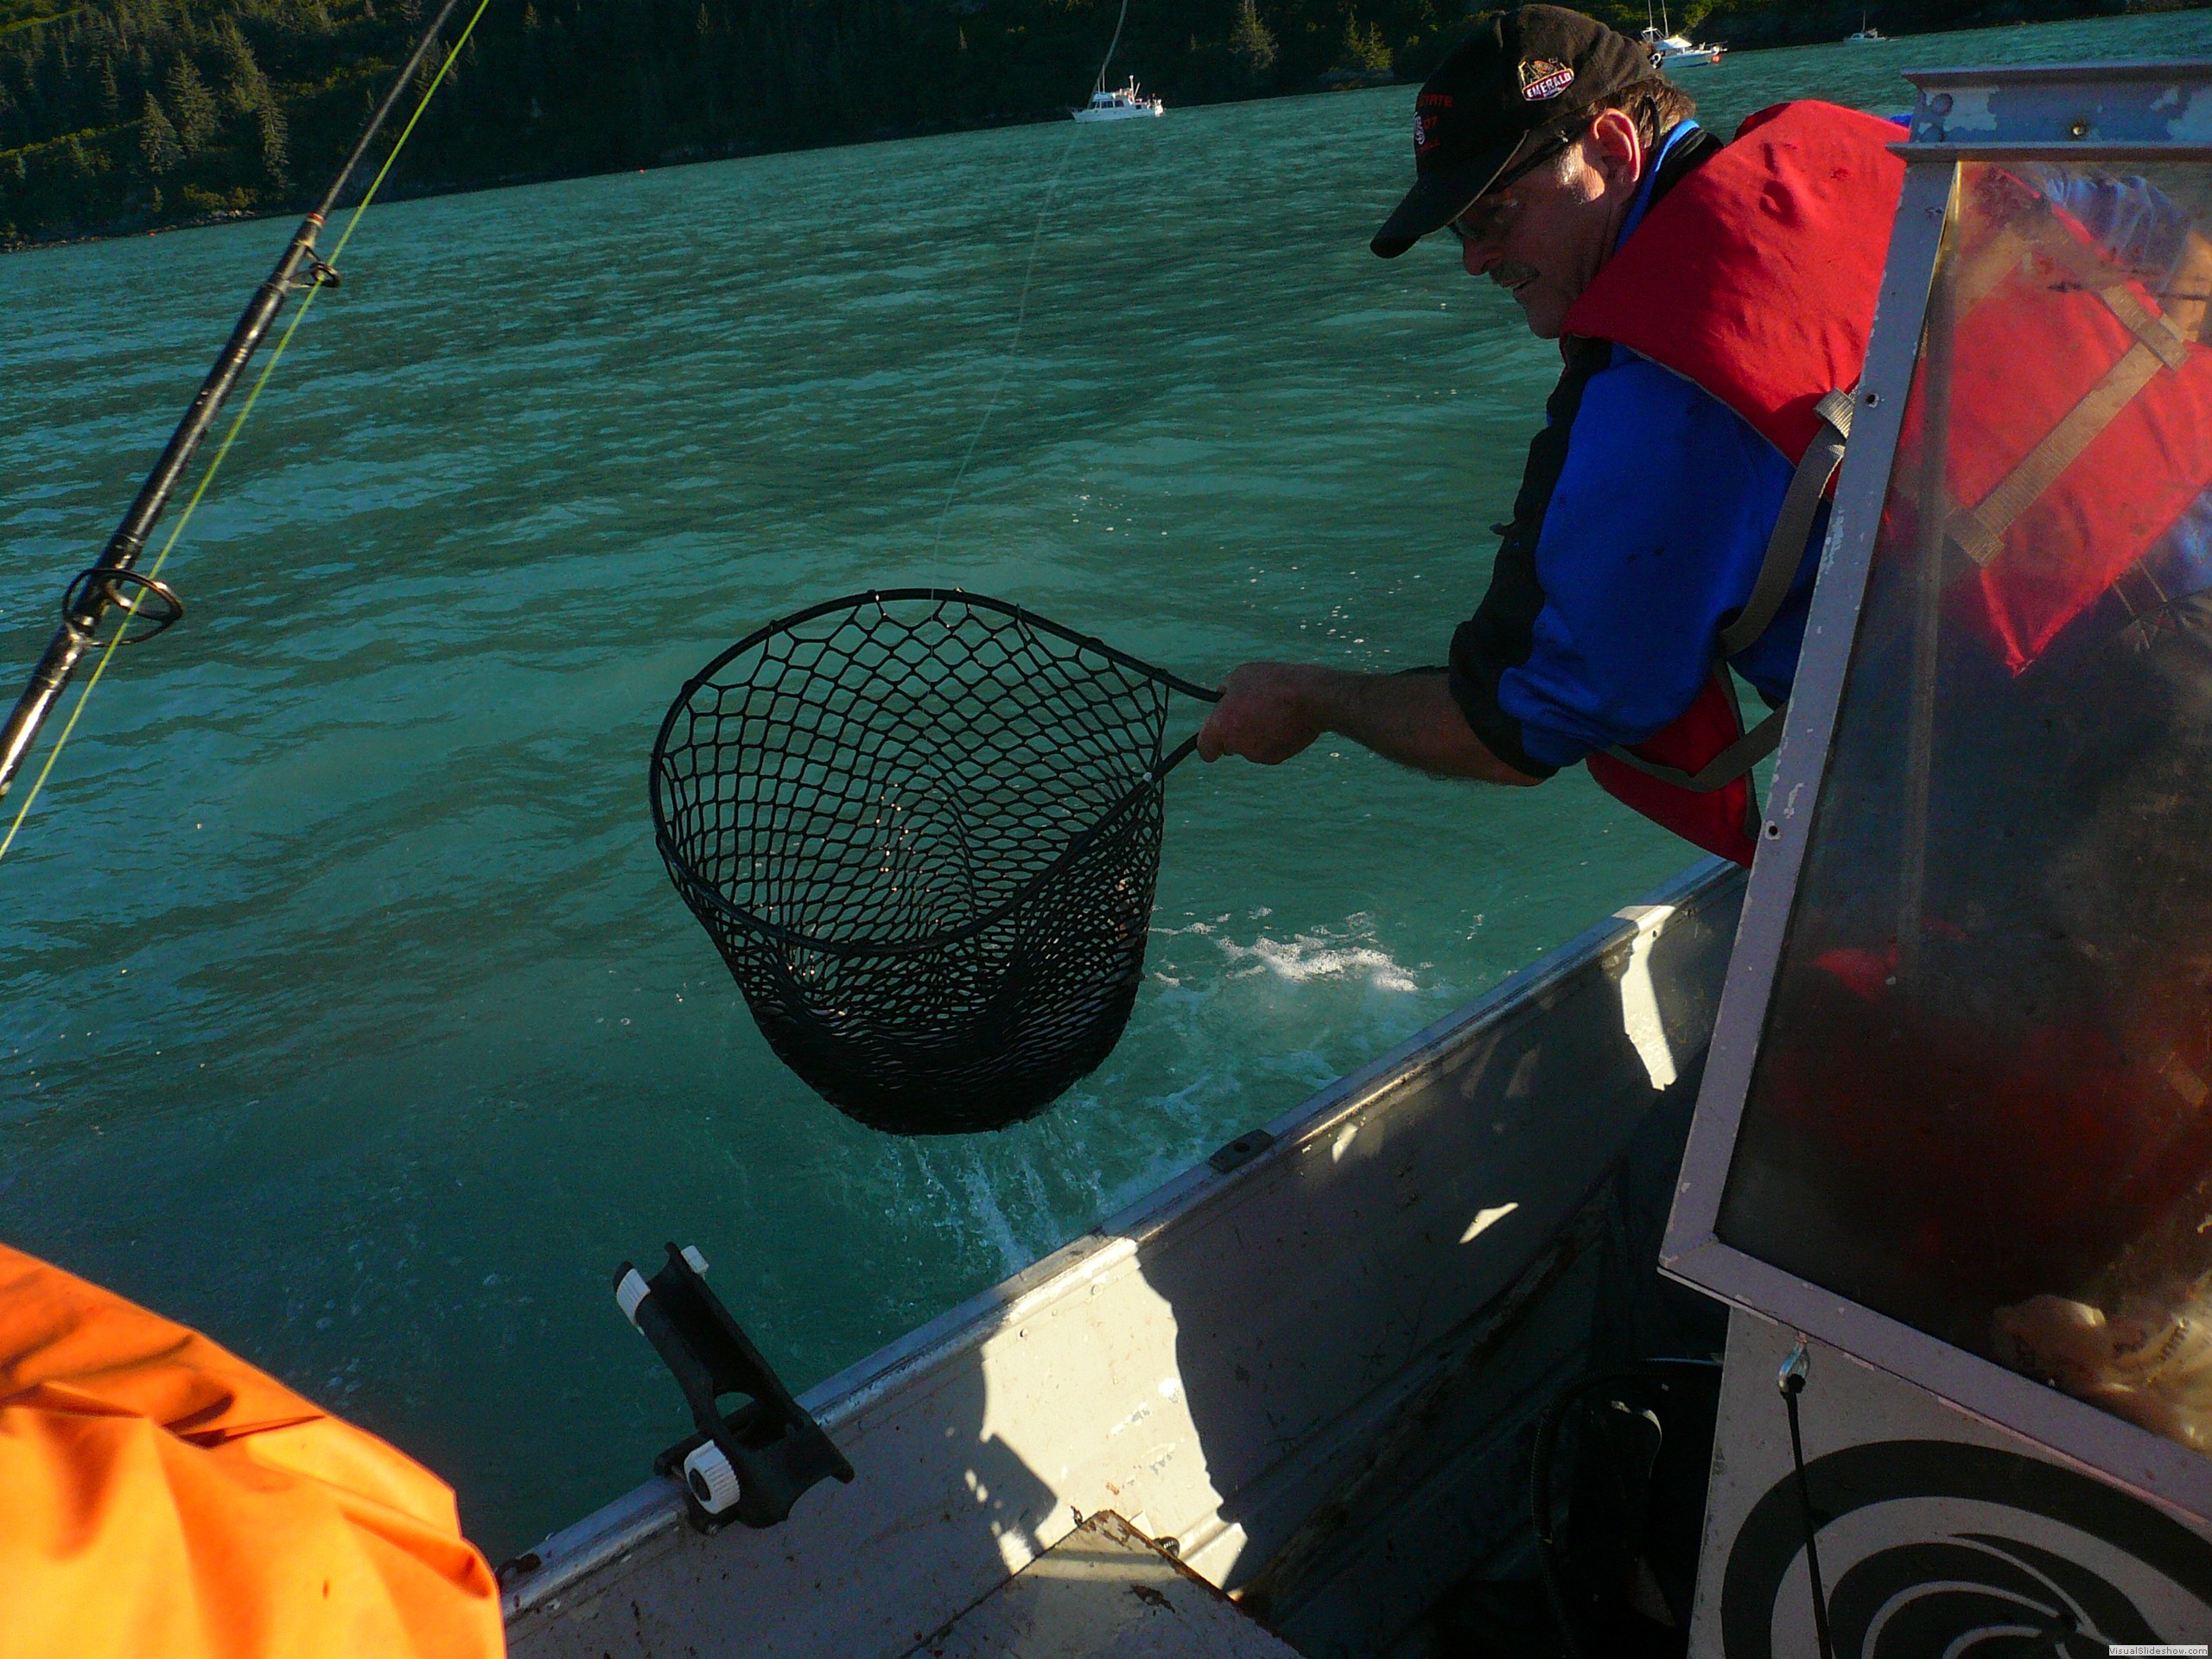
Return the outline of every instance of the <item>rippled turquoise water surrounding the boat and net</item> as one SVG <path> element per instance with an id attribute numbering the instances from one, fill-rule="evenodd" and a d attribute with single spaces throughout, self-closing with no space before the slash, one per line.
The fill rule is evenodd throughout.
<path id="1" fill-rule="evenodd" d="M 2132 55 L 2212 55 L 2212 13 L 1686 84 L 1725 128 Z M 810 1383 L 1688 863 L 1579 772 L 1192 765 L 1119 1051 L 1040 1121 L 914 1144 L 776 1066 L 653 854 L 681 679 L 860 586 L 960 582 L 1199 679 L 1438 661 L 1557 361 L 1447 252 L 1367 254 L 1409 100 L 369 215 L 168 571 L 190 617 L 0 863 L 0 1237 L 392 1436 L 502 1555 L 681 1427 L 622 1256 L 697 1241 Z M 7 672 L 285 234 L 0 261 Z"/>

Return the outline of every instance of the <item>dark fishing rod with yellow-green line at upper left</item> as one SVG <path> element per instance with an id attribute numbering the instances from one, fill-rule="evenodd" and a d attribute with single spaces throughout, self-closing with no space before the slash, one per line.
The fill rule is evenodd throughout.
<path id="1" fill-rule="evenodd" d="M 285 243 L 283 254 L 276 259 L 276 268 L 246 303 L 246 312 L 239 316 L 237 327 L 230 330 L 230 338 L 217 354 L 215 367 L 210 367 L 208 376 L 199 383 L 199 392 L 192 396 L 192 407 L 184 411 L 184 420 L 177 422 L 177 429 L 168 438 L 168 447 L 146 476 L 146 482 L 139 487 L 137 500 L 131 502 L 131 511 L 124 513 L 122 524 L 115 526 L 115 535 L 108 538 L 100 560 L 86 571 L 80 571 L 69 584 L 69 591 L 62 595 L 62 626 L 55 628 L 53 639 L 46 641 L 46 655 L 38 659 L 38 668 L 31 672 L 31 681 L 24 686 L 22 697 L 15 699 L 15 710 L 7 717 L 7 726 L 0 726 L 0 796 L 4 796 L 15 783 L 15 774 L 31 754 L 31 743 L 38 739 L 40 726 L 44 726 L 46 714 L 53 712 L 53 706 L 66 690 L 71 675 L 75 675 L 77 664 L 84 661 L 88 650 L 102 644 L 100 628 L 108 619 L 108 613 L 122 613 L 117 633 L 106 639 L 108 650 L 153 639 L 184 615 L 184 599 L 177 597 L 175 588 L 153 573 L 142 573 L 133 566 L 137 564 L 139 553 L 146 551 L 146 538 L 153 535 L 155 522 L 159 522 L 161 511 L 168 507 L 168 500 L 177 489 L 177 480 L 184 478 L 186 467 L 192 465 L 192 453 L 199 449 L 199 440 L 208 436 L 208 429 L 215 425 L 215 416 L 223 409 L 223 400 L 246 374 L 246 365 L 268 336 L 270 325 L 276 321 L 276 312 L 283 310 L 285 296 L 294 288 L 316 290 L 338 285 L 338 272 L 314 252 L 314 239 L 323 230 L 332 208 L 338 206 L 338 197 L 345 192 L 345 186 L 352 181 L 363 157 L 369 153 L 369 146 L 376 142 L 385 119 L 398 106 L 400 95 L 422 69 L 422 60 L 429 58 L 431 46 L 438 44 L 438 31 L 445 29 L 458 7 L 460 0 L 445 0 L 445 4 L 438 7 L 438 15 L 429 20 L 422 38 L 416 40 L 414 51 L 407 53 L 407 62 L 400 64 L 400 73 L 392 77 L 392 86 L 385 91 L 383 102 L 376 106 L 376 113 L 369 115 L 369 124 L 361 128 L 361 137 L 354 139 L 354 148 L 345 157 L 345 166 L 338 168 L 338 175 L 330 181 L 330 188 L 314 206 L 314 212 L 299 221 L 299 230 L 294 230 L 292 241 Z M 478 4 L 478 15 L 482 15 L 482 4 Z M 473 18 L 469 27 L 476 27 Z M 460 46 L 456 44 L 453 51 L 460 51 Z M 451 64 L 451 58 L 447 64 Z M 429 91 L 436 91 L 436 84 L 431 84 Z M 429 102 L 429 91 L 422 95 L 425 104 Z M 420 113 L 422 106 L 418 104 L 416 115 Z M 411 126 L 414 122 L 409 122 L 409 128 Z M 405 142 L 405 137 L 407 135 L 403 133 L 400 142 Z M 394 155 L 396 153 L 398 146 L 394 146 Z M 385 166 L 392 166 L 389 157 L 385 159 Z M 383 175 L 378 175 L 378 181 L 380 179 Z M 367 201 L 363 199 L 361 206 L 367 206 Z M 303 265 L 307 270 L 305 279 L 301 279 Z M 248 400 L 246 407 L 250 409 L 252 400 Z M 217 453 L 217 462 L 219 460 L 221 453 Z M 131 633 L 133 622 L 139 624 L 137 633 Z"/>

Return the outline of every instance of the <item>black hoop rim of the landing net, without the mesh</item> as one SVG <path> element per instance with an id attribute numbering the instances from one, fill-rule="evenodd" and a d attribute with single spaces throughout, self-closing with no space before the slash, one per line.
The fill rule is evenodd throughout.
<path id="1" fill-rule="evenodd" d="M 684 688 L 668 703 L 668 712 L 661 717 L 659 732 L 653 737 L 653 763 L 650 763 L 650 772 L 648 772 L 646 796 L 648 796 L 648 805 L 653 807 L 653 845 L 659 849 L 661 863 L 666 863 L 672 872 L 681 874 L 686 891 L 688 894 L 690 891 L 701 894 L 721 916 L 726 916 L 728 920 L 737 922 L 739 927 L 743 927 L 743 929 L 748 929 L 752 933 L 763 936 L 765 940 L 770 940 L 770 942 L 774 942 L 774 945 L 779 945 L 783 949 L 823 951 L 825 956 L 841 956 L 841 958 L 896 958 L 896 956 L 922 956 L 927 951 L 936 951 L 936 949 L 942 949 L 947 945 L 958 945 L 960 940 L 973 938 L 973 936 L 982 933 L 984 929 L 995 927 L 998 922 L 1002 922 L 1009 914 L 1013 914 L 1013 909 L 1018 905 L 1022 905 L 1024 900 L 1029 900 L 1029 896 L 1037 887 L 1042 887 L 1053 876 L 1057 876 L 1062 869 L 1066 869 L 1077 858 L 1082 858 L 1082 854 L 1088 852 L 1091 845 L 1095 845 L 1108 830 L 1113 830 L 1117 823 L 1121 823 L 1121 818 L 1126 818 L 1137 807 L 1137 803 L 1144 801 L 1144 796 L 1148 792 L 1159 790 L 1159 785 L 1166 781 L 1168 772 L 1172 772 L 1177 765 L 1181 765 L 1186 759 L 1190 759 L 1190 754 L 1197 752 L 1199 739 L 1194 734 L 1186 737 L 1164 761 L 1157 761 L 1144 774 L 1144 779 L 1139 779 L 1128 790 L 1128 794 L 1124 794 L 1119 801 L 1115 801 L 1097 823 L 1093 823 L 1088 830 L 1084 830 L 1073 841 L 1068 841 L 1068 845 L 1062 847 L 1060 856 L 1053 858 L 1053 863 L 1048 863 L 1035 876 L 1031 876 L 1029 880 L 1024 880 L 1013 894 L 1009 894 L 1006 898 L 1002 898 L 989 911 L 984 911 L 982 916 L 978 916 L 978 918 L 973 918 L 969 922 L 962 922 L 960 927 L 949 927 L 949 929 L 945 929 L 940 933 L 931 933 L 931 936 L 920 938 L 920 940 L 898 940 L 898 942 L 883 942 L 883 940 L 832 940 L 832 938 L 821 938 L 821 936 L 814 936 L 814 933 L 801 933 L 799 929 L 779 927 L 776 922 L 770 922 L 770 920 L 765 920 L 761 916 L 754 916 L 752 911 L 748 911 L 741 905 L 732 902 L 721 891 L 721 887 L 717 887 L 706 876 L 701 876 L 692 867 L 690 858 L 686 858 L 675 847 L 672 834 L 668 830 L 668 814 L 661 810 L 661 759 L 668 752 L 668 734 L 675 730 L 677 714 L 681 714 L 690 706 L 690 699 L 697 695 L 697 690 L 701 686 L 710 684 L 714 679 L 714 675 L 721 672 L 730 661 L 734 661 L 737 657 L 745 655 L 754 646 L 759 646 L 759 644 L 763 644 L 768 639 L 774 639 L 779 633 L 790 633 L 792 628 L 796 628 L 796 626 L 801 626 L 805 622 L 814 622 L 816 617 L 832 615 L 834 611 L 858 611 L 858 608 L 869 606 L 869 604 L 874 604 L 874 606 L 880 608 L 885 604 L 905 602 L 905 599 L 929 599 L 933 604 L 942 604 L 945 599 L 958 599 L 960 604 L 967 604 L 967 606 L 975 606 L 975 608 L 982 608 L 982 611 L 995 611 L 1000 615 L 1013 617 L 1022 626 L 1040 628 L 1040 630 L 1044 630 L 1048 635 L 1066 639 L 1073 646 L 1079 646 L 1084 650 L 1095 650 L 1102 657 L 1106 657 L 1106 659 L 1110 659 L 1110 661 L 1115 661 L 1115 664 L 1119 664 L 1124 668 L 1135 668 L 1139 675 L 1144 675 L 1146 679 L 1152 679 L 1152 681 L 1166 686 L 1168 690 L 1183 692 L 1186 697 L 1197 697 L 1199 701 L 1206 701 L 1206 703 L 1219 703 L 1221 701 L 1221 692 L 1219 690 L 1210 690 L 1206 686 L 1197 686 L 1197 684 L 1183 679 L 1181 675 L 1172 675 L 1166 668 L 1157 668 L 1157 666 L 1144 661 L 1141 657 L 1130 657 L 1126 650 L 1115 650 L 1104 639 L 1097 639 L 1097 637 L 1086 635 L 1086 633 L 1077 633 L 1075 628 L 1066 628 L 1066 626 L 1053 622 L 1051 617 L 1040 617 L 1035 611 L 1026 611 L 1026 608 L 1022 608 L 1018 604 L 1011 604 L 1006 599 L 993 599 L 993 597 L 989 597 L 984 593 L 969 593 L 967 588 L 869 588 L 865 593 L 847 593 L 841 599 L 823 599 L 821 604 L 812 604 L 805 611 L 794 611 L 787 617 L 776 617 L 774 622 L 754 628 L 743 639 L 739 639 L 734 646 L 730 646 L 728 650 L 719 653 L 697 675 L 692 675 L 690 679 L 686 679 Z"/>

